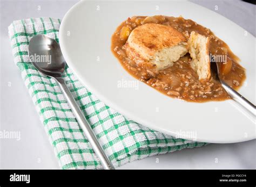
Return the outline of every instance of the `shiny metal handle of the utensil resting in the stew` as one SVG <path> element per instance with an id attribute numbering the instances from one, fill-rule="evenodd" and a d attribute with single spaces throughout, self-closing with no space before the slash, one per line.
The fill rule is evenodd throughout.
<path id="1" fill-rule="evenodd" d="M 228 95 L 235 100 L 235 102 L 239 103 L 240 105 L 244 106 L 247 111 L 255 116 L 255 105 L 252 104 L 249 100 L 247 100 L 244 96 L 240 95 L 237 91 L 230 87 L 230 85 L 226 84 L 224 81 L 221 81 L 221 84 L 227 91 Z"/>

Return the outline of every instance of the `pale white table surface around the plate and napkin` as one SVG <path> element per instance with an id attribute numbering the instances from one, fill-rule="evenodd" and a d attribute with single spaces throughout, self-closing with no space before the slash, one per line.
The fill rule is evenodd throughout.
<path id="1" fill-rule="evenodd" d="M 21 140 L 0 139 L 0 169 L 59 169 L 43 124 L 20 71 L 14 64 L 8 37 L 13 20 L 30 17 L 63 18 L 77 1 L 0 0 L 0 131 L 19 131 Z M 255 5 L 239 1 L 192 1 L 233 20 L 255 36 Z M 41 6 L 41 10 L 38 10 Z M 11 84 L 11 86 L 9 86 Z M 241 124 L 242 125 L 242 124 Z M 120 169 L 255 169 L 256 140 L 183 149 L 127 163 Z M 156 162 L 156 161 L 159 162 Z"/>

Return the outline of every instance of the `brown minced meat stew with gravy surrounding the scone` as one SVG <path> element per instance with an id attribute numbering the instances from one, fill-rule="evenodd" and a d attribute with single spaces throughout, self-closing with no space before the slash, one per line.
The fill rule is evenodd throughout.
<path id="1" fill-rule="evenodd" d="M 134 16 L 128 18 L 117 27 L 112 35 L 111 50 L 122 66 L 133 77 L 167 96 L 184 99 L 189 102 L 206 102 L 209 100 L 225 100 L 230 98 L 224 88 L 221 87 L 221 84 L 215 80 L 213 72 L 211 72 L 210 80 L 198 80 L 198 75 L 190 67 L 191 57 L 189 54 L 181 57 L 172 67 L 160 70 L 157 75 L 152 75 L 153 72 L 150 71 L 150 64 L 147 67 L 143 67 L 145 64 L 139 66 L 133 60 L 129 59 L 126 56 L 124 48 L 127 38 L 123 37 L 122 34 L 124 31 L 126 33 L 128 32 L 128 37 L 134 28 L 145 24 L 145 22 L 172 26 L 183 33 L 187 39 L 190 37 L 192 31 L 210 37 L 210 54 L 212 56 L 220 56 L 219 60 L 225 60 L 226 56 L 225 63 L 220 63 L 221 77 L 234 89 L 238 89 L 244 82 L 246 77 L 245 69 L 240 66 L 238 63 L 240 61 L 239 58 L 232 53 L 224 41 L 217 38 L 210 29 L 197 24 L 191 19 L 168 16 Z M 223 59 L 221 59 L 221 56 Z"/>

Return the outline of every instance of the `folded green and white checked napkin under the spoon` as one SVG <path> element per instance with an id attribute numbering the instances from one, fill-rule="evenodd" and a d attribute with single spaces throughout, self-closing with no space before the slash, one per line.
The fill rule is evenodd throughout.
<path id="1" fill-rule="evenodd" d="M 58 41 L 59 25 L 60 20 L 53 18 L 14 21 L 9 26 L 14 61 L 21 70 L 23 81 L 49 135 L 60 167 L 100 169 L 102 166 L 58 85 L 37 71 L 29 61 L 30 39 L 36 34 L 46 34 Z M 64 79 L 115 167 L 147 156 L 206 145 L 203 142 L 176 139 L 127 119 L 97 99 L 68 67 Z"/>

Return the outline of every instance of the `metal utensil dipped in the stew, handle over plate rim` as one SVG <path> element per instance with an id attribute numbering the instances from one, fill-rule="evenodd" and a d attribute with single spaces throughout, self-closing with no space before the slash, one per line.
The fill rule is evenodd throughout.
<path id="1" fill-rule="evenodd" d="M 237 91 L 235 91 L 230 85 L 228 85 L 220 75 L 219 65 L 217 62 L 211 63 L 211 69 L 216 74 L 216 80 L 218 80 L 222 87 L 227 91 L 228 95 L 241 106 L 243 106 L 247 111 L 249 111 L 253 116 L 255 116 L 255 105 L 252 104 L 249 100 L 247 100 L 244 96 L 240 95 Z"/>

